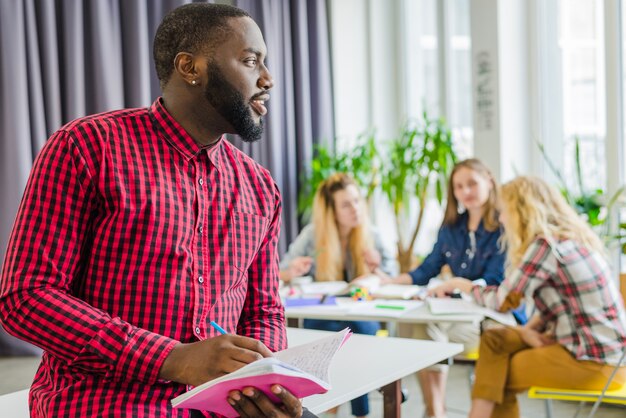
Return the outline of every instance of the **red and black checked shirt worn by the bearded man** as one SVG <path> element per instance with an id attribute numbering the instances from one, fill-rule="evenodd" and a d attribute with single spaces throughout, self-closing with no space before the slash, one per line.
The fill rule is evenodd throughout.
<path id="1" fill-rule="evenodd" d="M 286 346 L 280 195 L 225 139 L 202 148 L 162 101 L 64 126 L 35 161 L 2 273 L 0 319 L 45 353 L 35 417 L 185 417 L 158 379 L 177 341 Z"/>

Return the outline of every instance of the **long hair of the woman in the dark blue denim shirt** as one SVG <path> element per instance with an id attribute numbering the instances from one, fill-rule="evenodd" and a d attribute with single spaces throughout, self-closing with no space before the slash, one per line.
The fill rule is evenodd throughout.
<path id="1" fill-rule="evenodd" d="M 489 180 L 491 183 L 489 198 L 487 199 L 483 210 L 483 226 L 487 231 L 493 232 L 497 230 L 500 227 L 500 222 L 498 222 L 498 212 L 496 210 L 496 203 L 498 200 L 496 182 L 493 179 L 491 171 L 477 158 L 468 158 L 467 160 L 459 161 L 452 169 L 452 173 L 450 173 L 450 178 L 448 179 L 448 201 L 446 203 L 446 212 L 444 214 L 442 224 L 454 225 L 459 219 L 459 201 L 454 196 L 453 180 L 454 175 L 461 168 L 472 170 Z"/>

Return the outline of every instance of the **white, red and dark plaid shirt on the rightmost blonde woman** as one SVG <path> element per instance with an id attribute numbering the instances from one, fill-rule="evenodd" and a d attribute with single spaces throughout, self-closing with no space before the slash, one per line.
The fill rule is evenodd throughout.
<path id="1" fill-rule="evenodd" d="M 626 347 L 624 303 L 604 257 L 572 240 L 537 238 L 498 286 L 474 286 L 477 303 L 498 309 L 510 292 L 534 302 L 559 344 L 578 360 L 617 364 Z"/>

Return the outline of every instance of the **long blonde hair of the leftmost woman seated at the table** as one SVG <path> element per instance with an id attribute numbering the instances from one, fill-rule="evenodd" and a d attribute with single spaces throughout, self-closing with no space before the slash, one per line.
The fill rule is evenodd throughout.
<path id="1" fill-rule="evenodd" d="M 354 179 L 345 173 L 336 173 L 324 180 L 318 187 L 313 199 L 313 227 L 315 229 L 315 280 L 343 280 L 345 260 L 339 239 L 339 228 L 335 218 L 334 195 L 348 186 L 358 186 Z M 365 202 L 361 197 L 361 209 L 365 211 Z M 348 251 L 352 258 L 355 277 L 371 273 L 365 263 L 365 250 L 371 248 L 372 240 L 367 230 L 367 215 L 364 222 L 350 231 Z"/>

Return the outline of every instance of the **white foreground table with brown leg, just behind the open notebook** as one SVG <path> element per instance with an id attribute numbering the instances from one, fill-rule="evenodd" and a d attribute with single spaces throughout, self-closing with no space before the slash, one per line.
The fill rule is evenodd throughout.
<path id="1" fill-rule="evenodd" d="M 328 332 L 287 329 L 290 346 L 325 334 Z M 400 380 L 461 351 L 461 344 L 354 334 L 333 359 L 330 370 L 332 389 L 305 398 L 304 406 L 317 414 L 382 388 L 385 418 L 400 417 Z"/>

